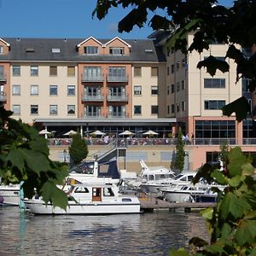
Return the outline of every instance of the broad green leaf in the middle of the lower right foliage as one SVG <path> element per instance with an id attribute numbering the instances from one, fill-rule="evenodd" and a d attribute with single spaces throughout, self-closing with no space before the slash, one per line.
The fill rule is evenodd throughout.
<path id="1" fill-rule="evenodd" d="M 231 192 L 227 192 L 219 205 L 219 218 L 241 218 L 244 212 L 250 209 L 251 206 L 246 200 L 237 197 Z"/>

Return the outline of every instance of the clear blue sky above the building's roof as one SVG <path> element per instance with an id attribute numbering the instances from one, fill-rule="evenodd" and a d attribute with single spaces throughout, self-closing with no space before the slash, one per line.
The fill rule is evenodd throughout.
<path id="1" fill-rule="evenodd" d="M 219 0 L 230 6 L 233 1 Z M 0 0 L 0 38 L 147 38 L 153 31 L 146 24 L 119 33 L 118 21 L 128 14 L 111 9 L 103 20 L 91 14 L 96 0 Z"/>

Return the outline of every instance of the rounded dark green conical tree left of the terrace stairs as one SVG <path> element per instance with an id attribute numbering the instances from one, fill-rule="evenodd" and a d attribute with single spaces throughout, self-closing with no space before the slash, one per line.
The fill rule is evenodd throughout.
<path id="1" fill-rule="evenodd" d="M 88 154 L 87 144 L 79 133 L 73 135 L 73 141 L 68 148 L 71 167 L 79 164 Z"/>

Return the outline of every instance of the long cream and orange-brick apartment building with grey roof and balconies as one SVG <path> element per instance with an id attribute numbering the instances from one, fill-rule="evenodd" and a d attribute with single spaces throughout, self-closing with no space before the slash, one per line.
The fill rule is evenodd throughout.
<path id="1" fill-rule="evenodd" d="M 220 110 L 247 94 L 246 81 L 236 83 L 236 63 L 226 60 L 230 72 L 214 77 L 197 68 L 209 55 L 224 60 L 228 46 L 183 55 L 165 48 L 170 37 L 0 38 L 0 104 L 56 137 L 70 129 L 175 137 L 180 126 L 189 136 L 191 169 L 216 160 L 222 143 L 255 152 L 253 119 L 238 123 Z M 193 34 L 187 39 L 191 44 Z"/>

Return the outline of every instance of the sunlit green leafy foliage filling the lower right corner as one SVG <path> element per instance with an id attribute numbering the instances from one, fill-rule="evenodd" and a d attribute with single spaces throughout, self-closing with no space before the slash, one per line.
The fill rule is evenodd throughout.
<path id="1" fill-rule="evenodd" d="M 210 242 L 194 237 L 189 241 L 195 255 L 256 255 L 256 180 L 249 158 L 241 153 L 241 148 L 231 148 L 228 155 L 228 172 L 219 172 L 205 165 L 195 176 L 207 181 L 212 178 L 225 186 L 218 191 L 218 204 L 215 208 L 201 211 L 206 218 Z M 255 175 L 255 174 L 254 174 Z M 179 249 L 183 255 L 191 255 Z M 178 255 L 172 250 L 170 255 Z"/>

